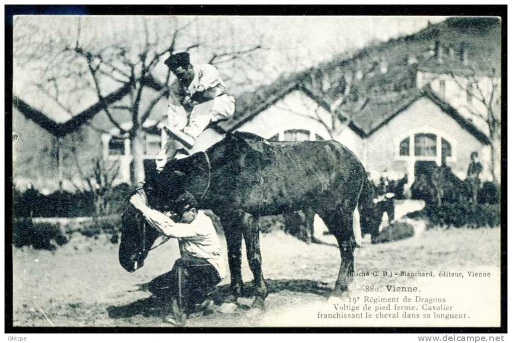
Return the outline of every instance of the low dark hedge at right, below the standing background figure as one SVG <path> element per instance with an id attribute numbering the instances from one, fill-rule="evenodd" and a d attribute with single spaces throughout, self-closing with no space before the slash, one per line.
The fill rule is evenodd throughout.
<path id="1" fill-rule="evenodd" d="M 468 202 L 441 206 L 426 205 L 421 211 L 409 213 L 407 217 L 427 219 L 430 226 L 494 227 L 501 223 L 501 206 L 499 204 L 474 205 Z"/>

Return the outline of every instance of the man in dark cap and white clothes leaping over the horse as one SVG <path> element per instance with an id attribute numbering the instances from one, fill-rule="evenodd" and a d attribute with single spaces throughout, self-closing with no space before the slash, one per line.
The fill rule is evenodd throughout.
<path id="1" fill-rule="evenodd" d="M 164 126 L 169 137 L 156 159 L 157 170 L 168 160 L 184 157 L 208 125 L 234 114 L 234 98 L 226 92 L 217 68 L 191 65 L 187 52 L 171 55 L 164 63 L 177 79 L 170 86 L 168 126 Z M 177 156 L 179 152 L 184 155 Z"/>

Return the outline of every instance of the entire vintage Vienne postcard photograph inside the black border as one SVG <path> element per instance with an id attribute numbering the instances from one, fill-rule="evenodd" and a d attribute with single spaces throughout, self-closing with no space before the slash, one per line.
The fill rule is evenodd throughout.
<path id="1" fill-rule="evenodd" d="M 502 17 L 75 12 L 12 17 L 13 329 L 506 326 Z"/>

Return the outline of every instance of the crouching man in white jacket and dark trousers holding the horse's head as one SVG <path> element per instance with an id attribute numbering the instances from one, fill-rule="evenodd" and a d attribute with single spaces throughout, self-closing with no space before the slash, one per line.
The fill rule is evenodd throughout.
<path id="1" fill-rule="evenodd" d="M 189 192 L 178 200 L 179 221 L 148 207 L 140 194 L 132 196 L 130 202 L 162 235 L 178 239 L 181 257 L 170 272 L 153 280 L 150 288 L 167 298 L 172 307 L 172 314 L 165 320 L 184 325 L 187 315 L 197 315 L 212 305 L 207 294 L 226 276 L 224 256 L 214 225 L 204 212 L 198 211 L 197 201 Z"/>

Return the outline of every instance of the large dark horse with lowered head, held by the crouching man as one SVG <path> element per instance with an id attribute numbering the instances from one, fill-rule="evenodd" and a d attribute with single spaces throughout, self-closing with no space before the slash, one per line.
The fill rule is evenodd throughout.
<path id="1" fill-rule="evenodd" d="M 185 190 L 221 218 L 228 249 L 231 295 L 242 293 L 241 245 L 254 276 L 253 306 L 268 294 L 261 269 L 259 216 L 313 209 L 338 242 L 341 263 L 333 295 L 347 291 L 354 270 L 353 212 L 372 206 L 366 172 L 355 155 L 334 141 L 269 142 L 257 135 L 227 134 L 205 153 L 167 163 L 146 180 L 148 205 L 172 208 Z M 363 211 L 365 212 L 365 211 Z M 130 207 L 123 215 L 119 261 L 127 271 L 140 268 L 158 237 Z"/>

